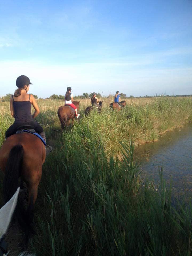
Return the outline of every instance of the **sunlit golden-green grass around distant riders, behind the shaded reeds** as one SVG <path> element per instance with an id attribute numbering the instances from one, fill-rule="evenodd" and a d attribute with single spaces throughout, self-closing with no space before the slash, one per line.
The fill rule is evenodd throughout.
<path id="1" fill-rule="evenodd" d="M 162 133 L 173 129 L 192 119 L 191 98 L 149 98 L 129 99 L 122 111 L 109 110 L 112 99 L 103 99 L 101 115 L 91 113 L 85 118 L 84 112 L 90 105 L 90 100 L 80 102 L 81 118 L 75 130 L 85 140 L 97 142 L 100 137 L 104 142 L 105 152 L 108 155 L 118 153 L 118 141 L 128 141 L 131 137 L 135 145 L 145 142 L 157 141 Z M 38 101 L 41 114 L 37 121 L 57 130 L 61 130 L 57 110 L 63 101 L 44 100 Z M 13 123 L 10 115 L 9 103 L 2 102 L 0 106 L 1 137 L 0 144 L 6 129 Z M 49 129 L 44 127 L 49 137 Z M 71 134 L 73 137 L 73 133 Z M 51 137 L 49 137 L 51 140 Z M 73 141 L 73 139 L 72 139 Z M 50 142 L 51 143 L 51 142 Z"/>

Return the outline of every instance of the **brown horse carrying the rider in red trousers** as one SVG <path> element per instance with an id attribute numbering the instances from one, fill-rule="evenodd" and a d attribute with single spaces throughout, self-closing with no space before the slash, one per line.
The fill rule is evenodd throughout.
<path id="1" fill-rule="evenodd" d="M 77 110 L 79 110 L 79 102 L 80 101 L 73 101 L 73 104 L 77 107 Z M 64 129 L 64 127 L 67 127 L 70 124 L 70 119 L 72 119 L 72 124 L 75 120 L 75 113 L 71 110 L 71 107 L 61 106 L 59 107 L 57 114 L 62 129 Z"/>

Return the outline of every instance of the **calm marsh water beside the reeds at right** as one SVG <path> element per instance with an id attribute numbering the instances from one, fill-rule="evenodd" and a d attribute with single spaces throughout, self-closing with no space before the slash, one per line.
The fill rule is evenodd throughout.
<path id="1" fill-rule="evenodd" d="M 179 197 L 192 196 L 192 123 L 162 135 L 158 142 L 135 148 L 134 159 L 140 163 L 141 176 L 159 183 L 159 169 L 172 192 Z"/>

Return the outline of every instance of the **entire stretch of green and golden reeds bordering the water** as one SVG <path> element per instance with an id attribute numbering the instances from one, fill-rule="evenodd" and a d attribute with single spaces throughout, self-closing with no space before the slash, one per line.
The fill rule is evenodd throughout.
<path id="1" fill-rule="evenodd" d="M 171 206 L 171 187 L 162 173 L 159 186 L 140 180 L 129 143 L 157 140 L 191 120 L 191 98 L 128 101 L 121 112 L 83 117 L 61 132 L 59 101 L 39 101 L 37 120 L 54 146 L 43 165 L 35 205 L 37 255 L 191 255 L 192 206 Z M 13 122 L 9 105 L 0 108 L 3 133 Z M 5 114 L 6 113 L 6 114 Z M 125 142 L 123 142 L 125 141 Z M 121 154 L 121 161 L 118 159 Z"/>

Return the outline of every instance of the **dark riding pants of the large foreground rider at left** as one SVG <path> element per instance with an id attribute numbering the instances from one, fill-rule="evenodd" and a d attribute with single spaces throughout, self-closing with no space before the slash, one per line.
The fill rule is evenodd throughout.
<path id="1" fill-rule="evenodd" d="M 33 121 L 30 121 L 30 122 L 26 122 L 26 123 L 13 123 L 13 125 L 11 125 L 6 133 L 5 133 L 5 137 L 9 137 L 13 134 L 16 133 L 17 131 L 17 127 L 19 126 L 23 126 L 23 125 L 32 125 L 34 127 L 34 130 L 37 132 L 37 133 L 42 133 L 44 130 L 43 128 L 41 127 L 41 125 L 39 125 L 39 123 L 35 122 L 34 120 Z"/>

